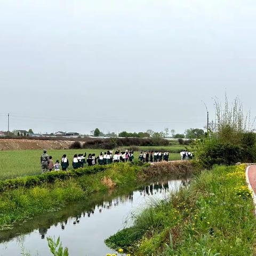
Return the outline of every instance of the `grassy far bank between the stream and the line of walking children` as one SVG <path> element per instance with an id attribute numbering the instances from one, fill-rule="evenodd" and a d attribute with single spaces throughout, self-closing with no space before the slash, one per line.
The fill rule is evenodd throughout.
<path id="1" fill-rule="evenodd" d="M 157 177 L 155 169 L 158 167 L 141 163 L 117 163 L 1 181 L 0 229 L 12 228 L 13 222 L 33 218 L 39 213 L 57 211 L 68 202 L 84 199 L 94 192 L 138 185 Z M 169 170 L 169 173 L 174 171 L 171 167 Z M 162 174 L 166 173 L 168 168 L 163 169 Z"/>

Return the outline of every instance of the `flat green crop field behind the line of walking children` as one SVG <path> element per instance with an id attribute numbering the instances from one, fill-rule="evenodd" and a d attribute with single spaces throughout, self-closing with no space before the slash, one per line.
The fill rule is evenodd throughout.
<path id="1" fill-rule="evenodd" d="M 162 147 L 163 148 L 163 147 Z M 60 161 L 61 156 L 66 154 L 69 159 L 71 169 L 73 156 L 75 154 L 95 153 L 96 156 L 100 154 L 103 149 L 55 149 L 48 150 L 47 154 L 52 156 L 53 162 L 57 159 Z M 41 173 L 40 156 L 42 150 L 6 150 L 0 151 L 0 180 L 17 178 L 26 175 L 35 175 Z M 139 151 L 134 152 L 134 158 L 138 159 Z M 179 160 L 179 154 L 170 154 L 170 160 Z"/>

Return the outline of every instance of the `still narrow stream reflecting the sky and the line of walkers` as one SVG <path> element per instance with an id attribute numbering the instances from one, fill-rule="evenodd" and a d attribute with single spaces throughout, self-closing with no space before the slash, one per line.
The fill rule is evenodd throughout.
<path id="1" fill-rule="evenodd" d="M 60 236 L 71 256 L 114 253 L 104 240 L 122 229 L 131 213 L 141 211 L 153 198 L 167 198 L 170 191 L 178 190 L 186 182 L 186 179 L 169 177 L 140 188 L 105 191 L 58 212 L 39 215 L 15 225 L 12 230 L 0 231 L 0 255 L 50 256 L 48 236 L 56 239 Z"/>

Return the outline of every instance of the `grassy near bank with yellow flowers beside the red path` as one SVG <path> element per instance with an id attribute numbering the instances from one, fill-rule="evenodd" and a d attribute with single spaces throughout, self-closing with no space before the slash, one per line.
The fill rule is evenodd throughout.
<path id="1" fill-rule="evenodd" d="M 245 165 L 217 166 L 169 200 L 153 202 L 106 243 L 138 256 L 255 255 L 253 209 Z"/>

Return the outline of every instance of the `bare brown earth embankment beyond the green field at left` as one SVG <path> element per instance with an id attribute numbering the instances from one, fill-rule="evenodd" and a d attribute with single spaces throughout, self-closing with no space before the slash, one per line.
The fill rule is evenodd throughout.
<path id="1" fill-rule="evenodd" d="M 17 149 L 68 149 L 71 140 L 27 140 L 27 139 L 1 139 L 0 150 Z"/>

